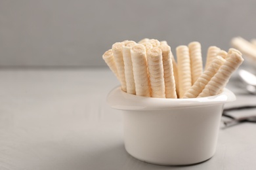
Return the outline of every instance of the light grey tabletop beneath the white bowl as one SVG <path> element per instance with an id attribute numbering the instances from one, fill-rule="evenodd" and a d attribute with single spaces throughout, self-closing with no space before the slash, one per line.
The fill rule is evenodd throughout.
<path id="1" fill-rule="evenodd" d="M 220 129 L 215 156 L 197 165 L 153 165 L 127 154 L 122 116 L 106 104 L 119 84 L 109 69 L 2 69 L 0 80 L 1 170 L 256 168 L 251 123 Z M 237 100 L 225 107 L 256 105 L 256 95 L 234 82 L 228 88 Z"/>

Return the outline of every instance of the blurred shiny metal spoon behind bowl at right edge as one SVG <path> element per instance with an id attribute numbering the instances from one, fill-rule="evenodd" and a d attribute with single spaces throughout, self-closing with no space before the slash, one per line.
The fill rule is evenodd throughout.
<path id="1" fill-rule="evenodd" d="M 256 76 L 244 69 L 240 69 L 238 75 L 242 82 L 244 82 L 247 92 L 256 94 Z"/>

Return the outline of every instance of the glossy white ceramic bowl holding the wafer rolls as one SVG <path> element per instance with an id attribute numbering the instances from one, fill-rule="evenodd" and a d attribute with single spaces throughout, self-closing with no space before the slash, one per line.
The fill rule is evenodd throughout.
<path id="1" fill-rule="evenodd" d="M 125 149 L 159 165 L 189 165 L 215 154 L 224 103 L 234 93 L 193 99 L 140 97 L 115 88 L 108 104 L 123 112 Z"/>

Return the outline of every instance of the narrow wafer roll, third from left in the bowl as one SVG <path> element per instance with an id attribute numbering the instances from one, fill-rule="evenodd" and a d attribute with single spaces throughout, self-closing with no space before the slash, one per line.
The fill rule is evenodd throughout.
<path id="1" fill-rule="evenodd" d="M 125 64 L 125 82 L 127 93 L 136 94 L 135 81 L 133 77 L 133 62 L 131 61 L 131 47 L 137 44 L 135 41 L 123 43 L 123 62 Z"/>

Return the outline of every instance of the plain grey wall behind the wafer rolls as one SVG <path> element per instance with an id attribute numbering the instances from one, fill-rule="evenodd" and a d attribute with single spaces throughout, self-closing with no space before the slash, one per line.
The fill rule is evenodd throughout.
<path id="1" fill-rule="evenodd" d="M 256 38 L 256 1 L 0 0 L 0 66 L 106 66 L 104 51 L 125 39 L 191 41 L 224 50 Z"/>

